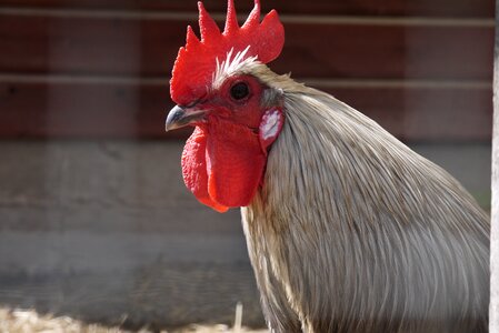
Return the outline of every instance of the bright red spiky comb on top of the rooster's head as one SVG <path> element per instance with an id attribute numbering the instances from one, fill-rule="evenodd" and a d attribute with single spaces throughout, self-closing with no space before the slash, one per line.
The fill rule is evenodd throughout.
<path id="1" fill-rule="evenodd" d="M 249 47 L 244 59 L 257 57 L 267 63 L 279 56 L 285 43 L 285 29 L 275 10 L 260 23 L 259 0 L 255 0 L 255 8 L 242 27 L 238 24 L 233 0 L 228 0 L 223 32 L 220 32 L 202 2 L 198 2 L 198 8 L 201 40 L 189 26 L 186 46 L 180 48 L 172 70 L 170 95 L 178 104 L 189 104 L 206 94 L 217 59 L 223 61 L 230 50 L 237 54 Z"/>

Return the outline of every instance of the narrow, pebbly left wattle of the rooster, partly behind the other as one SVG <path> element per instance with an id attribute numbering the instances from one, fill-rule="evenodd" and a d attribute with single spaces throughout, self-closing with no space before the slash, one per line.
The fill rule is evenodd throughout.
<path id="1" fill-rule="evenodd" d="M 217 203 L 208 194 L 206 147 L 206 131 L 202 128 L 197 127 L 187 140 L 182 152 L 183 182 L 201 203 L 223 213 L 227 212 L 229 208 Z"/>

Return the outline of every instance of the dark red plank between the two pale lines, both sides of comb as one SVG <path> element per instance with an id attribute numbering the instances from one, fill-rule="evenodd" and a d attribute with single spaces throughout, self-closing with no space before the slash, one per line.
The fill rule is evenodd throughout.
<path id="1" fill-rule="evenodd" d="M 188 23 L 0 14 L 0 72 L 164 77 L 184 43 Z M 277 72 L 302 78 L 491 79 L 493 27 L 289 22 L 286 29 L 285 50 L 270 64 Z"/>

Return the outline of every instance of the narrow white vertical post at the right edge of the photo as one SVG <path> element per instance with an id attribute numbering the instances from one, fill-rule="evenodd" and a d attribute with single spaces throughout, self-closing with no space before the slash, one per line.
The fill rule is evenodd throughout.
<path id="1" fill-rule="evenodd" d="M 499 333 L 499 0 L 493 48 L 492 208 L 490 230 L 489 333 Z"/>

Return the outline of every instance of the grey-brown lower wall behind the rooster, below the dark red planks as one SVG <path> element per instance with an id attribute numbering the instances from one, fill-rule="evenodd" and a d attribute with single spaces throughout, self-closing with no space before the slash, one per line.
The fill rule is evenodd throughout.
<path id="1" fill-rule="evenodd" d="M 489 145 L 415 145 L 488 203 Z M 0 142 L 0 304 L 140 326 L 261 325 L 238 210 L 199 204 L 182 143 Z"/>

